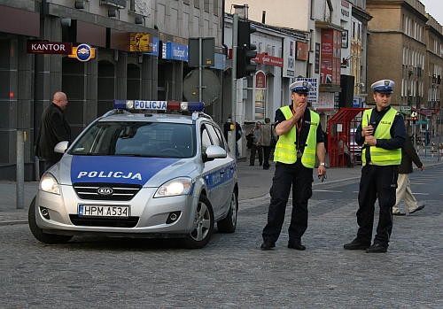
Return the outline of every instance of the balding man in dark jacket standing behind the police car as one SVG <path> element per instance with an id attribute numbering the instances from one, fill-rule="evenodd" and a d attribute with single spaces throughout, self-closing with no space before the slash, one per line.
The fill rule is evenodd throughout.
<path id="1" fill-rule="evenodd" d="M 52 104 L 44 110 L 42 115 L 35 155 L 45 159 L 45 171 L 56 164 L 63 156 L 62 153 L 54 151 L 55 145 L 62 141 L 71 141 L 71 128 L 63 113 L 66 105 L 66 94 L 56 92 Z"/>

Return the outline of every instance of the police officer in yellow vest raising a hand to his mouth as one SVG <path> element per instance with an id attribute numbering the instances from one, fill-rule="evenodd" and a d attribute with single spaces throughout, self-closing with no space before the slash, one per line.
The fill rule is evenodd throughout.
<path id="1" fill-rule="evenodd" d="M 275 127 L 276 134 L 279 135 L 274 151 L 276 172 L 269 190 L 271 202 L 268 224 L 263 228 L 261 250 L 270 250 L 276 246 L 291 187 L 292 215 L 288 248 L 305 250 L 305 246 L 301 244 L 301 236 L 307 229 L 307 201 L 312 196 L 315 154 L 320 161 L 318 174 L 326 173 L 320 117 L 307 108 L 307 94 L 311 88 L 311 83 L 307 81 L 292 83 L 292 104 L 276 111 Z"/>

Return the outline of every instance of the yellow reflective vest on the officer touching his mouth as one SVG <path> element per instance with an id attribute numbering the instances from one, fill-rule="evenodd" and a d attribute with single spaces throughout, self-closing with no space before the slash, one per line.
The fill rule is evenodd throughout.
<path id="1" fill-rule="evenodd" d="M 280 110 L 284 114 L 286 120 L 291 119 L 292 112 L 289 106 L 281 107 Z M 315 166 L 315 150 L 317 147 L 317 127 L 320 121 L 320 116 L 313 111 L 309 111 L 311 115 L 311 126 L 307 134 L 307 146 L 301 156 L 301 164 L 308 168 Z M 276 143 L 276 150 L 274 151 L 274 161 L 285 164 L 292 164 L 297 162 L 297 134 L 296 126 L 291 127 L 291 130 L 284 135 L 278 137 Z"/>

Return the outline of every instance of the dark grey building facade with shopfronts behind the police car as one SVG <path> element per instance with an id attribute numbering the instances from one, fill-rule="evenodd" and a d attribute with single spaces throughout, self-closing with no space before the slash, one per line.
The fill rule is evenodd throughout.
<path id="1" fill-rule="evenodd" d="M 221 0 L 0 0 L 0 179 L 15 179 L 17 130 L 27 139 L 25 179 L 37 179 L 34 147 L 41 114 L 56 91 L 69 104 L 73 137 L 113 108 L 113 99 L 181 100 L 188 39 L 214 37 L 212 70 L 223 78 Z M 136 46 L 146 35 L 149 46 Z M 28 53 L 29 42 L 87 43 L 95 58 Z M 42 50 L 41 50 L 42 51 Z M 222 93 L 206 102 L 221 121 Z"/>

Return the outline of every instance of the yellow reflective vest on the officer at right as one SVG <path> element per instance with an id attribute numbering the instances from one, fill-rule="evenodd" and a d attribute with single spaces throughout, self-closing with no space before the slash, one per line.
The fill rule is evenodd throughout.
<path id="1" fill-rule="evenodd" d="M 361 128 L 368 126 L 368 120 L 372 109 L 363 112 L 363 119 L 361 120 Z M 391 139 L 391 127 L 397 111 L 391 108 L 385 113 L 383 119 L 377 125 L 377 130 L 374 132 L 376 139 Z M 376 166 L 398 166 L 401 163 L 401 148 L 394 150 L 387 150 L 377 146 L 370 146 L 370 159 Z M 366 148 L 363 149 L 361 155 L 363 166 L 366 165 Z"/>

